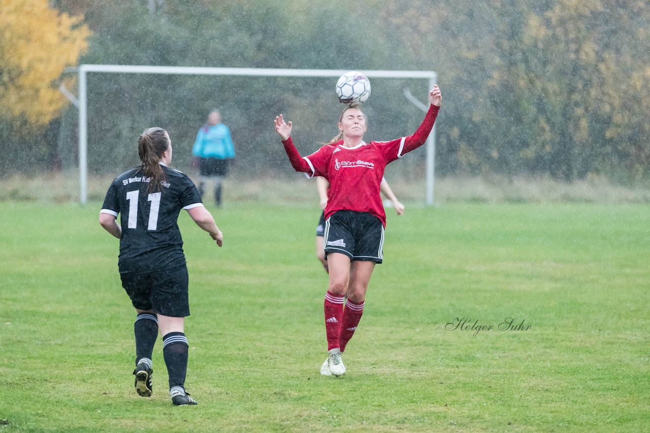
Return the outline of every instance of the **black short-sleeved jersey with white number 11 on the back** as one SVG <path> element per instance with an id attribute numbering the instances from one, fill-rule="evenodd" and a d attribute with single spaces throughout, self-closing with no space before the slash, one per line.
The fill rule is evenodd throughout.
<path id="1" fill-rule="evenodd" d="M 120 214 L 121 274 L 149 273 L 185 265 L 177 219 L 181 209 L 203 206 L 201 195 L 185 173 L 162 166 L 161 189 L 149 192 L 149 178 L 137 167 L 116 177 L 100 213 Z"/>

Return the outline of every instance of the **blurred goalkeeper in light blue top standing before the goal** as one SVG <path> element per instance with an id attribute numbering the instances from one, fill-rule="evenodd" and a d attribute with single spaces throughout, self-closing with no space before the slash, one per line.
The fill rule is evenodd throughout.
<path id="1" fill-rule="evenodd" d="M 192 155 L 198 160 L 201 197 L 205 184 L 214 181 L 214 203 L 221 206 L 222 182 L 228 173 L 229 164 L 235 159 L 235 145 L 230 129 L 221 123 L 221 114 L 212 110 L 207 123 L 199 129 L 192 147 Z"/>

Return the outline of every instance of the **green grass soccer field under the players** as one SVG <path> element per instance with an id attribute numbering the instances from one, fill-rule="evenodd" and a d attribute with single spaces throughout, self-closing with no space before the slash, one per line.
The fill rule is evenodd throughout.
<path id="1" fill-rule="evenodd" d="M 222 249 L 183 215 L 199 406 L 181 408 L 160 339 L 153 397 L 133 390 L 135 314 L 99 206 L 0 206 L 1 432 L 649 429 L 647 204 L 388 210 L 341 378 L 318 375 L 315 206 L 231 204 Z"/>

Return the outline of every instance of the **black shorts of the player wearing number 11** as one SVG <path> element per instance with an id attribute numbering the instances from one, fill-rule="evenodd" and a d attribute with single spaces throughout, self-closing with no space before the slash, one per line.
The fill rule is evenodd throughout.
<path id="1" fill-rule="evenodd" d="M 153 310 L 171 317 L 190 315 L 187 266 L 120 277 L 122 287 L 138 310 Z"/>

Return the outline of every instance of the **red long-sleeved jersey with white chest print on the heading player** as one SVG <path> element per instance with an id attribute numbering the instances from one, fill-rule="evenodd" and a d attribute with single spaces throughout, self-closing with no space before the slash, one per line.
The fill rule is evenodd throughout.
<path id="1" fill-rule="evenodd" d="M 415 134 L 390 142 L 362 142 L 355 147 L 344 147 L 343 142 L 324 145 L 304 158 L 294 147 L 291 137 L 282 143 L 291 165 L 307 177 L 322 176 L 330 182 L 325 218 L 338 210 L 368 212 L 386 225 L 380 184 L 387 164 L 402 158 L 426 142 L 439 107 L 431 105 L 422 125 Z"/>

